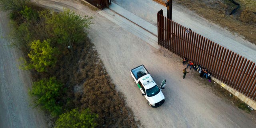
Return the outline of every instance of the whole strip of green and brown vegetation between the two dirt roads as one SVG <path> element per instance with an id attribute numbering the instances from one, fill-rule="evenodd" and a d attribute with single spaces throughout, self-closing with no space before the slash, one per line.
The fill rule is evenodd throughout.
<path id="1" fill-rule="evenodd" d="M 10 45 L 24 52 L 21 67 L 32 72 L 34 81 L 29 93 L 49 115 L 49 127 L 140 126 L 84 32 L 91 17 L 26 3 L 12 10 L 10 19 Z"/>

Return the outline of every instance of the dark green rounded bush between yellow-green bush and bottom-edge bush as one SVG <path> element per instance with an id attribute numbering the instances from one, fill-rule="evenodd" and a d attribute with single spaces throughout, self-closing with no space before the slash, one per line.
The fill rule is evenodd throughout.
<path id="1" fill-rule="evenodd" d="M 34 82 L 29 91 L 30 96 L 36 97 L 35 105 L 50 112 L 52 116 L 58 116 L 62 112 L 63 104 L 60 100 L 64 93 L 65 89 L 55 77 Z"/>

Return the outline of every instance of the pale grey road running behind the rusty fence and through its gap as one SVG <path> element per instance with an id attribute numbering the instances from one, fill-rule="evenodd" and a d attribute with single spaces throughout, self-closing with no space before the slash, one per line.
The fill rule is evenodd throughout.
<path id="1" fill-rule="evenodd" d="M 153 0 L 112 0 L 122 8 L 143 18 L 151 24 L 157 26 L 157 12 L 164 10 L 166 16 L 166 7 L 154 2 Z M 241 56 L 256 62 L 256 45 L 242 39 L 237 34 L 232 34 L 228 30 L 221 28 L 208 20 L 196 15 L 194 12 L 173 4 L 172 20 L 182 24 L 186 28 L 191 28 L 194 32 L 213 40 L 214 42 L 232 50 Z M 252 33 L 256 36 L 256 33 Z M 256 43 L 256 40 L 254 41 Z"/>

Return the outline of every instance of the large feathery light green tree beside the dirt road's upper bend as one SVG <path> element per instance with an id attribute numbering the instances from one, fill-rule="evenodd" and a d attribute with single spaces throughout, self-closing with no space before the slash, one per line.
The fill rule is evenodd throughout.
<path id="1" fill-rule="evenodd" d="M 40 16 L 46 19 L 46 28 L 48 28 L 52 40 L 64 46 L 72 49 L 74 43 L 82 43 L 86 38 L 84 28 L 89 28 L 92 24 L 90 19 L 92 17 L 80 16 L 75 12 L 68 9 L 64 9 L 64 12 L 60 13 L 47 13 L 42 12 Z"/>

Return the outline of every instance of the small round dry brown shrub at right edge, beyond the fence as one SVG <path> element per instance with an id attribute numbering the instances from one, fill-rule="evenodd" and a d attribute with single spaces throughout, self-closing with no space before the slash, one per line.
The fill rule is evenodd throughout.
<path id="1" fill-rule="evenodd" d="M 256 14 L 254 14 L 251 9 L 246 8 L 242 11 L 240 20 L 248 24 L 256 24 Z"/>

